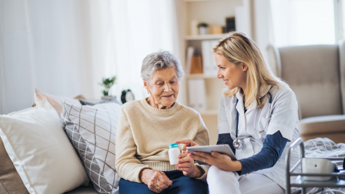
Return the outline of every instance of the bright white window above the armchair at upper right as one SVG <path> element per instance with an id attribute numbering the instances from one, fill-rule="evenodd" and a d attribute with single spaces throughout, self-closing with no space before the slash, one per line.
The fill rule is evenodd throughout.
<path id="1" fill-rule="evenodd" d="M 335 44 L 345 37 L 343 1 L 272 0 L 275 45 Z"/>

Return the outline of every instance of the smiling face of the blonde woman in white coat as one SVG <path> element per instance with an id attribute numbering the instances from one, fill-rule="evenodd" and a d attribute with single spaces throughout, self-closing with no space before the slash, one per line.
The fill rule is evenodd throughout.
<path id="1" fill-rule="evenodd" d="M 245 91 L 248 65 L 245 65 L 244 63 L 241 63 L 241 65 L 235 65 L 227 60 L 223 55 L 216 53 L 214 54 L 214 59 L 218 66 L 217 78 L 223 79 L 229 90 L 241 87 L 243 91 Z"/>

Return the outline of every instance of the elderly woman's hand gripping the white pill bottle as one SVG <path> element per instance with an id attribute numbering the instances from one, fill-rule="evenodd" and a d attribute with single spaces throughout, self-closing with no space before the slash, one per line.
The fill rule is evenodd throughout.
<path id="1" fill-rule="evenodd" d="M 177 161 L 176 168 L 184 173 L 187 177 L 200 177 L 202 171 L 194 165 L 194 159 L 188 156 L 188 153 L 179 154 L 179 160 Z"/>

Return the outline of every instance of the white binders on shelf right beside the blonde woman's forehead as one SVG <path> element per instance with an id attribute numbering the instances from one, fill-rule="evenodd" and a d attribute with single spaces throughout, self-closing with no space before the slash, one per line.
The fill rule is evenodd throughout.
<path id="1" fill-rule="evenodd" d="M 202 67 L 205 76 L 215 76 L 218 72 L 218 67 L 216 61 L 214 60 L 214 51 L 212 49 L 218 40 L 202 40 L 201 50 L 202 50 Z"/>

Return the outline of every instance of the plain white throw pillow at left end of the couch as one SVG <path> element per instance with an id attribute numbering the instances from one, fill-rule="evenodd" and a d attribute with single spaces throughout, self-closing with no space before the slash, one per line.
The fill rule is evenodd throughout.
<path id="1" fill-rule="evenodd" d="M 29 193 L 64 193 L 89 181 L 47 99 L 0 115 L 0 136 Z"/>

